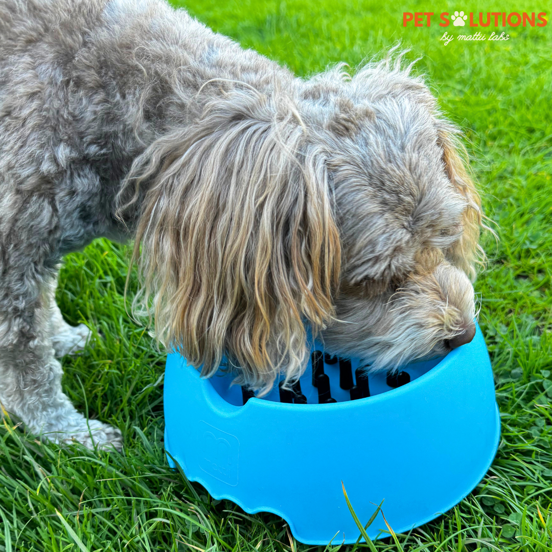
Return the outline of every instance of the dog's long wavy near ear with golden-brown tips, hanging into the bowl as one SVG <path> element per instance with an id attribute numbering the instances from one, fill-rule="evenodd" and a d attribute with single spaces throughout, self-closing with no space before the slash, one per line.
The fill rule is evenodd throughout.
<path id="1" fill-rule="evenodd" d="M 305 325 L 317 333 L 332 319 L 341 266 L 325 159 L 293 109 L 271 101 L 232 92 L 131 172 L 148 186 L 135 306 L 203 376 L 226 355 L 238 383 L 264 391 L 302 372 Z"/>

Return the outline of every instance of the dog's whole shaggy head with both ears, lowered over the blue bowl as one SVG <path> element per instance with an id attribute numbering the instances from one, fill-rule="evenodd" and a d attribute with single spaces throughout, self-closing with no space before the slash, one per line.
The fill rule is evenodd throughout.
<path id="1" fill-rule="evenodd" d="M 268 390 L 301 374 L 306 327 L 380 368 L 469 336 L 479 198 L 419 79 L 384 62 L 215 88 L 126 185 L 147 183 L 136 305 L 160 341 Z"/>

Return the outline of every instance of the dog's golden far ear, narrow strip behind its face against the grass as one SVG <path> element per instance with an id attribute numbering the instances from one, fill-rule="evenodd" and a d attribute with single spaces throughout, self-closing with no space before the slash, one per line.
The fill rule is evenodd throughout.
<path id="1" fill-rule="evenodd" d="M 477 274 L 476 266 L 483 264 L 485 253 L 479 245 L 482 227 L 481 199 L 473 180 L 466 171 L 466 164 L 460 156 L 462 147 L 454 129 L 439 129 L 438 142 L 443 148 L 443 163 L 450 182 L 466 199 L 467 206 L 462 217 L 462 235 L 447 251 L 455 266 L 464 270 L 472 280 Z M 464 157 L 467 155 L 464 152 Z"/>

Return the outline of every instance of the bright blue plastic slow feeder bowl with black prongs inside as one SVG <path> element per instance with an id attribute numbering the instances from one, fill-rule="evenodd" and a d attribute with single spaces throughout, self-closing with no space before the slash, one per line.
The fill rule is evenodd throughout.
<path id="1" fill-rule="evenodd" d="M 313 351 L 323 353 L 321 344 Z M 485 341 L 477 327 L 471 343 L 444 358 L 410 364 L 398 378 L 369 375 L 368 385 L 355 378 L 358 367 L 358 359 L 325 362 L 319 393 L 310 362 L 299 398 L 280 397 L 275 385 L 257 399 L 231 386 L 231 375 L 201 379 L 170 354 L 165 448 L 211 496 L 249 513 L 278 514 L 302 543 L 357 540 L 341 481 L 363 524 L 385 499 L 390 526 L 406 532 L 460 502 L 495 456 L 500 419 Z M 319 404 L 328 399 L 328 381 L 332 402 Z M 353 383 L 352 391 L 342 389 Z M 307 404 L 280 402 L 303 397 Z M 380 513 L 368 535 L 385 529 Z"/>

